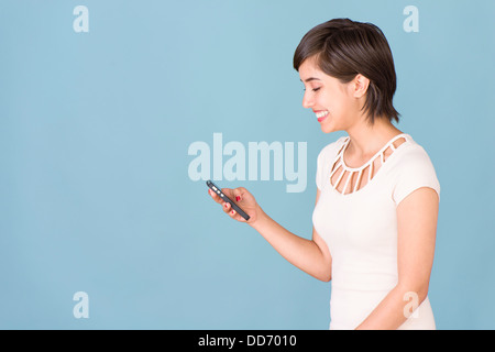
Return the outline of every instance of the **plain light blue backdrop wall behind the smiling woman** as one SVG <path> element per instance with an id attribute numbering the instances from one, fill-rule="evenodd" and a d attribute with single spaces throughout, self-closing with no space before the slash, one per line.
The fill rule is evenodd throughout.
<path id="1" fill-rule="evenodd" d="M 76 6 L 89 33 L 73 30 Z M 419 33 L 406 33 L 406 6 Z M 188 146 L 307 142 L 308 187 L 244 186 L 311 235 L 323 134 L 294 51 L 332 18 L 378 25 L 398 128 L 441 183 L 439 329 L 495 328 L 494 18 L 486 1 L 0 1 L 0 328 L 327 329 L 330 284 L 189 179 Z M 73 295 L 89 295 L 76 319 Z"/>

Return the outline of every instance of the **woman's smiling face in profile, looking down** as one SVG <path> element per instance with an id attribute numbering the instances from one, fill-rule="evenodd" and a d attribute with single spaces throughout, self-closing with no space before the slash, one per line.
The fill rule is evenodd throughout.
<path id="1" fill-rule="evenodd" d="M 299 66 L 299 77 L 305 85 L 302 107 L 315 112 L 324 133 L 349 131 L 362 121 L 363 95 L 358 84 L 360 78 L 362 82 L 363 76 L 358 75 L 349 84 L 342 84 L 321 72 L 310 57 Z"/>

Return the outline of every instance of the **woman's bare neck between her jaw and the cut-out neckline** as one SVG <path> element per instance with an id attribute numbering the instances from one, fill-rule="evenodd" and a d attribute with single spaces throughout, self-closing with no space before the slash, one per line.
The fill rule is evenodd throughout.
<path id="1" fill-rule="evenodd" d="M 348 152 L 359 157 L 373 156 L 395 135 L 403 133 L 388 119 L 383 118 L 375 119 L 373 125 L 362 120 L 346 132 L 351 138 Z"/>

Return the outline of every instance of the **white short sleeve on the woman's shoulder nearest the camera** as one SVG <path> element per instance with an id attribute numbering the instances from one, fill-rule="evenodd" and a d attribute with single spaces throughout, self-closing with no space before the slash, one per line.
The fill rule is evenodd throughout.
<path id="1" fill-rule="evenodd" d="M 399 205 L 413 191 L 422 187 L 435 189 L 440 199 L 440 183 L 433 164 L 426 151 L 420 145 L 416 145 L 402 157 L 393 199 L 396 205 Z"/>

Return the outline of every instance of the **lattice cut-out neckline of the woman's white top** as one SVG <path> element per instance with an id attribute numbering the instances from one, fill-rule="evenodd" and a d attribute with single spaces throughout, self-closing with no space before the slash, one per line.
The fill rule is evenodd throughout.
<path id="1" fill-rule="evenodd" d="M 394 145 L 399 139 L 404 141 Z M 336 161 L 332 164 L 330 173 L 330 185 L 341 195 L 351 195 L 363 189 L 376 176 L 385 162 L 396 152 L 396 150 L 408 141 L 406 133 L 400 133 L 389 140 L 375 155 L 360 167 L 349 167 L 345 164 L 343 154 L 348 148 L 351 138 L 348 136 L 337 153 Z M 387 155 L 386 155 L 387 154 Z M 364 182 L 363 182 L 364 178 Z M 343 184 L 343 180 L 345 183 Z M 364 183 L 364 184 L 363 184 Z M 343 184 L 343 186 L 342 186 Z M 350 190 L 348 191 L 348 188 Z"/>

